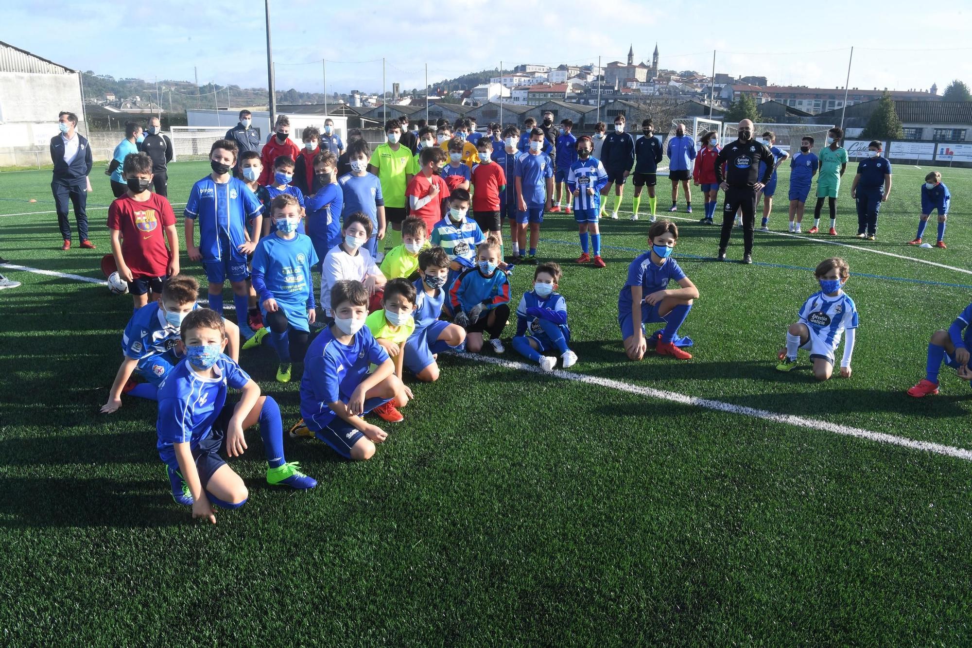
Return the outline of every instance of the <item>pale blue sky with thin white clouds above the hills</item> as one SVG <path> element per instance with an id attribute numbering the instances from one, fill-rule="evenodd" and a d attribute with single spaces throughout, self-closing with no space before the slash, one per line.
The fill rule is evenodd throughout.
<path id="1" fill-rule="evenodd" d="M 270 0 L 277 90 L 402 90 L 519 63 L 650 63 L 765 76 L 770 84 L 939 93 L 953 79 L 972 86 L 972 2 L 842 0 L 789 2 L 772 12 L 729 2 L 557 0 L 524 12 L 522 0 L 334 2 Z M 592 7 L 604 10 L 592 11 Z M 246 9 L 241 11 L 241 8 Z M 648 8 L 650 7 L 650 11 Z M 505 18 L 514 17 L 514 18 Z M 266 87 L 263 3 L 51 0 L 5 9 L 0 41 L 95 74 Z M 448 25 L 455 26 L 452 29 Z M 487 25 L 488 28 L 480 30 Z M 480 33 L 487 36 L 480 36 Z M 454 34 L 448 36 L 447 34 Z M 455 44 L 455 47 L 453 47 Z"/>

